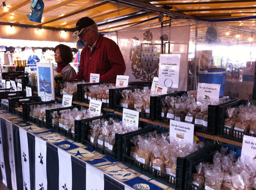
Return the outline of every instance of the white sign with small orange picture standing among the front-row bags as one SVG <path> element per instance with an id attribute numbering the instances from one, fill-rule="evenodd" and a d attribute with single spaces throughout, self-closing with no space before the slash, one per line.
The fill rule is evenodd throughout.
<path id="1" fill-rule="evenodd" d="M 194 124 L 170 120 L 170 137 L 193 144 Z"/>

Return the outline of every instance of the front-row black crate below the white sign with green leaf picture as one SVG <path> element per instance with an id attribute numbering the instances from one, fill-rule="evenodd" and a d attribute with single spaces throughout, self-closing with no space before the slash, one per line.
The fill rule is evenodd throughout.
<path id="1" fill-rule="evenodd" d="M 109 119 L 109 118 L 113 118 L 113 119 L 117 119 L 120 118 L 120 116 L 118 115 L 113 115 L 113 114 L 107 114 L 107 115 L 102 115 L 102 116 L 98 116 L 98 117 L 94 117 L 94 118 L 90 118 L 90 119 L 84 119 L 81 122 L 81 143 L 83 145 L 86 145 L 108 157 L 114 158 L 118 161 L 121 161 L 122 159 L 122 137 L 124 137 L 124 135 L 126 134 L 132 134 L 135 131 L 131 131 L 131 132 L 127 132 L 125 134 L 115 134 L 115 146 L 114 146 L 114 152 L 105 150 L 104 148 L 98 147 L 97 145 L 94 145 L 93 143 L 91 143 L 90 141 L 88 141 L 88 130 L 90 129 L 89 123 L 92 122 L 93 120 L 97 120 L 97 119 Z M 139 126 L 144 128 L 145 123 L 144 122 L 139 122 Z M 151 126 L 149 124 L 149 126 Z M 137 131 L 140 131 L 142 129 L 139 129 Z"/>

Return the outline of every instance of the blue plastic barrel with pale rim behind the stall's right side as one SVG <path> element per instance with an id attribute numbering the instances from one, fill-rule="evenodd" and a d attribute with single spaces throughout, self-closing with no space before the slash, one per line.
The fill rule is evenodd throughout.
<path id="1" fill-rule="evenodd" d="M 204 69 L 198 71 L 199 73 L 199 83 L 208 84 L 219 84 L 220 97 L 224 95 L 225 91 L 225 80 L 226 80 L 226 69 Z"/>

